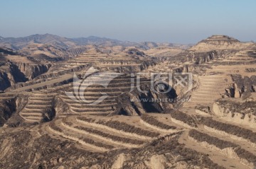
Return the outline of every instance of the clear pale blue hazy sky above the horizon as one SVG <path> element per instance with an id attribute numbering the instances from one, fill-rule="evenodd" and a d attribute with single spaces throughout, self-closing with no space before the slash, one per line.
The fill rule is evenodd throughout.
<path id="1" fill-rule="evenodd" d="M 90 35 L 196 43 L 210 35 L 256 40 L 255 0 L 0 0 L 0 36 Z"/>

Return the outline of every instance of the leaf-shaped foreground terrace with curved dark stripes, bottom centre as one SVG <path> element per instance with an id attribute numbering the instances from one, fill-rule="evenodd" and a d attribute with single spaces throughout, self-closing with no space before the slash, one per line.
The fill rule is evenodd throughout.
<path id="1" fill-rule="evenodd" d="M 142 122 L 140 117 L 73 115 L 43 125 L 43 130 L 46 128 L 53 137 L 58 135 L 63 139 L 78 141 L 80 148 L 90 151 L 109 151 L 139 148 L 153 139 L 179 131 L 175 128 L 162 133 L 163 125 L 167 126 L 158 121 L 155 124 Z"/>

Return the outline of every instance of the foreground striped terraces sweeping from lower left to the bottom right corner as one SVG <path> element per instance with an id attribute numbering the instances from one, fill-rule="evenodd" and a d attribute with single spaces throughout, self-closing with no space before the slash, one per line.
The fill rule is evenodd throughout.
<path id="1" fill-rule="evenodd" d="M 207 153 L 224 168 L 254 168 L 256 162 L 255 129 L 182 112 L 142 117 L 73 115 L 43 124 L 41 129 L 53 138 L 76 141 L 78 148 L 93 152 L 143 148 L 151 141 L 182 132 L 179 144 Z"/>

